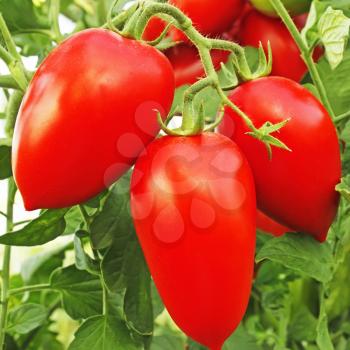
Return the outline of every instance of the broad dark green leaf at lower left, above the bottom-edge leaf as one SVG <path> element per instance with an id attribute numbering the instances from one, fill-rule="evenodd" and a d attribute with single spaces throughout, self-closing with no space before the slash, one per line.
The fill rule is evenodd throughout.
<path id="1" fill-rule="evenodd" d="M 88 318 L 102 313 L 102 287 L 98 277 L 72 265 L 56 270 L 50 284 L 61 292 L 63 308 L 71 318 Z"/>

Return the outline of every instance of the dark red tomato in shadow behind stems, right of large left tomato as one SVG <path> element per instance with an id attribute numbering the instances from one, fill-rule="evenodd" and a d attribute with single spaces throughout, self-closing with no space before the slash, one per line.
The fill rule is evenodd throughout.
<path id="1" fill-rule="evenodd" d="M 184 84 L 193 84 L 205 75 L 203 64 L 195 47 L 187 44 L 180 44 L 168 49 L 165 52 L 175 74 L 175 85 L 179 87 Z M 229 52 L 212 50 L 211 57 L 215 69 L 220 69 L 221 62 L 225 63 Z"/>

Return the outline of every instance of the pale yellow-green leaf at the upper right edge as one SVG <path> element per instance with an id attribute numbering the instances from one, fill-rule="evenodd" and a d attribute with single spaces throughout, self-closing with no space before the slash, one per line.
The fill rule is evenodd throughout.
<path id="1" fill-rule="evenodd" d="M 318 22 L 326 58 L 332 69 L 335 69 L 343 59 L 349 28 L 350 18 L 347 18 L 341 10 L 333 10 L 331 7 L 327 8 Z"/>

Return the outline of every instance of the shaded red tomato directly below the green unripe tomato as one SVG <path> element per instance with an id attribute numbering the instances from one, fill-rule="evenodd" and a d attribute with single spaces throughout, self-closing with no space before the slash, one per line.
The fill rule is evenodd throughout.
<path id="1" fill-rule="evenodd" d="M 298 26 L 302 27 L 300 19 Z M 238 33 L 240 43 L 245 46 L 259 47 L 261 42 L 267 52 L 267 42 L 272 48 L 272 75 L 278 75 L 300 81 L 307 67 L 300 56 L 300 50 L 286 26 L 280 19 L 264 16 L 258 11 L 250 11 L 244 17 Z M 315 58 L 319 57 L 316 53 Z"/>

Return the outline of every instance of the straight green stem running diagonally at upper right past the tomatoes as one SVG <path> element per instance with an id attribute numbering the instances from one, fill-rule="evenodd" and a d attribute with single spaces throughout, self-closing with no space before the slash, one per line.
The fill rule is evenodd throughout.
<path id="1" fill-rule="evenodd" d="M 326 89 L 323 85 L 322 79 L 320 77 L 320 74 L 317 70 L 316 64 L 312 57 L 312 50 L 310 52 L 310 49 L 308 45 L 304 42 L 298 28 L 296 27 L 295 23 L 293 22 L 291 16 L 289 15 L 288 11 L 284 7 L 281 0 L 270 0 L 271 5 L 277 12 L 277 14 L 280 16 L 284 24 L 286 25 L 287 29 L 289 30 L 290 34 L 292 35 L 295 43 L 299 47 L 299 50 L 301 51 L 301 56 L 305 61 L 305 64 L 307 65 L 312 81 L 314 82 L 316 89 L 319 93 L 320 99 L 324 106 L 327 108 L 329 114 L 331 115 L 332 119 L 334 119 L 334 111 L 333 108 L 329 102 Z"/>

